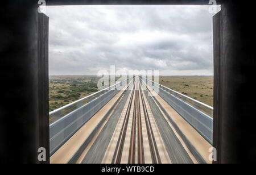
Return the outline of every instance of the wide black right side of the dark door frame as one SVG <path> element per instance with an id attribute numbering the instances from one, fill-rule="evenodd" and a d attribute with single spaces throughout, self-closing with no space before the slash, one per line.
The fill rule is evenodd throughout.
<path id="1" fill-rule="evenodd" d="M 225 1 L 214 16 L 214 124 L 216 163 L 255 161 L 254 6 Z"/>

